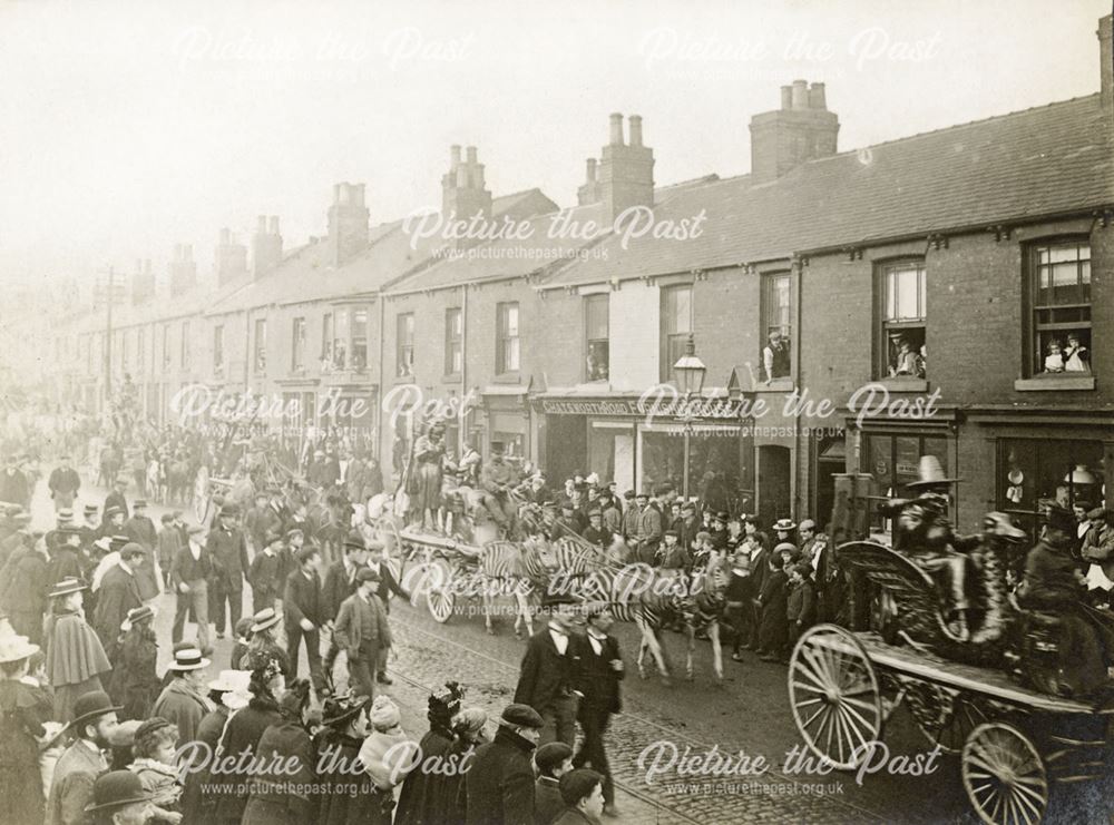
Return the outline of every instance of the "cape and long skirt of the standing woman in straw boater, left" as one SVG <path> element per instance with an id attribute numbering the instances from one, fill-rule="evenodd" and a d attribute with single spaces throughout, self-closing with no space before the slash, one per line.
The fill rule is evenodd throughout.
<path id="1" fill-rule="evenodd" d="M 77 611 L 51 615 L 46 623 L 47 679 L 55 690 L 55 720 L 74 719 L 74 703 L 100 690 L 100 676 L 111 671 L 100 638 Z"/>

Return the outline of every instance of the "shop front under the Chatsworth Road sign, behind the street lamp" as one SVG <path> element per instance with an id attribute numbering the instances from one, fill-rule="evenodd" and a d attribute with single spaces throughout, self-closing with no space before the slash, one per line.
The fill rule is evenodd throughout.
<path id="1" fill-rule="evenodd" d="M 740 512 L 753 500 L 753 439 L 749 421 L 717 404 L 713 415 L 684 421 L 648 416 L 637 396 L 568 397 L 541 394 L 541 462 L 554 489 L 576 474 L 615 481 L 620 492 L 651 492 L 662 483 L 684 489 L 716 510 Z"/>

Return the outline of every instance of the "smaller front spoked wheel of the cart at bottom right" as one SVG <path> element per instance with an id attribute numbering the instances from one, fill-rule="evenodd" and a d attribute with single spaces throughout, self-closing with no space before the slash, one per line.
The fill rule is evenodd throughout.
<path id="1" fill-rule="evenodd" d="M 979 725 L 964 745 L 960 773 L 967 798 L 988 825 L 1036 825 L 1048 806 L 1045 766 L 1013 725 Z"/>

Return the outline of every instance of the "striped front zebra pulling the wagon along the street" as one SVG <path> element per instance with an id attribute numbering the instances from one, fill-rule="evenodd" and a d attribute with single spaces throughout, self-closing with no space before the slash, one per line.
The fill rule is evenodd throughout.
<path id="1" fill-rule="evenodd" d="M 720 610 L 726 574 L 719 560 L 686 574 L 683 570 L 663 570 L 636 562 L 610 564 L 585 577 L 582 600 L 604 602 L 619 621 L 633 622 L 642 634 L 638 644 L 638 675 L 645 679 L 645 654 L 648 650 L 662 679 L 668 684 L 670 668 L 658 636 L 661 629 L 680 618 L 685 626 L 688 650 L 685 672 L 694 678 L 693 655 L 696 630 L 706 628 L 712 642 L 712 662 L 716 682 L 723 680 L 723 651 L 720 646 Z"/>

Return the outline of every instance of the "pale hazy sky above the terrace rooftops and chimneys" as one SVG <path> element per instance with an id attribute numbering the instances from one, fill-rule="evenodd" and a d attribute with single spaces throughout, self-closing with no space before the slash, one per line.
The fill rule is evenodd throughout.
<path id="1" fill-rule="evenodd" d="M 747 122 L 824 81 L 850 149 L 1098 89 L 1111 0 L 0 0 L 0 281 L 212 265 L 258 214 L 324 234 L 440 204 L 449 145 L 498 196 L 575 202 L 612 111 L 655 179 L 749 170 Z M 0 298 L 2 301 L 2 298 Z"/>

